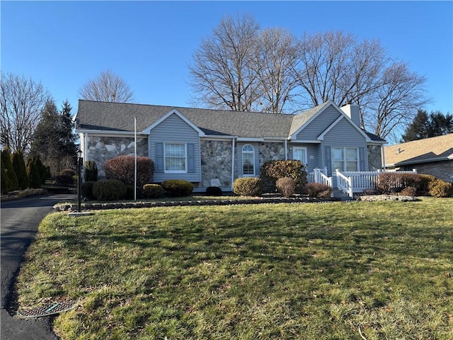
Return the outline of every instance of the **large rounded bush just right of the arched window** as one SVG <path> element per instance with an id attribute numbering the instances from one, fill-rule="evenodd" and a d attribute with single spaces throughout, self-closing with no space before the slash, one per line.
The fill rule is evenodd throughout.
<path id="1" fill-rule="evenodd" d="M 277 180 L 285 177 L 294 179 L 296 191 L 301 191 L 306 184 L 306 166 L 297 160 L 265 162 L 260 171 L 265 191 L 275 191 Z"/>

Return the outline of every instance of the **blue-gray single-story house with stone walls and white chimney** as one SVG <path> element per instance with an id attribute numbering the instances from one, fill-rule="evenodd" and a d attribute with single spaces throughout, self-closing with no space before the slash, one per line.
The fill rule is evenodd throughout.
<path id="1" fill-rule="evenodd" d="M 385 140 L 360 128 L 359 108 L 328 101 L 298 115 L 79 101 L 76 132 L 84 159 L 103 164 L 120 154 L 154 160 L 154 181 L 184 179 L 198 191 L 231 190 L 235 179 L 260 176 L 274 159 L 299 159 L 308 171 L 382 169 Z M 335 182 L 335 177 L 334 177 Z"/>

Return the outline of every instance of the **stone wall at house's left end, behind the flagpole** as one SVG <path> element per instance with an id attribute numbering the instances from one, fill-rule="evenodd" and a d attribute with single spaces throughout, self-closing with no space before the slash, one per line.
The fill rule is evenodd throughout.
<path id="1" fill-rule="evenodd" d="M 120 155 L 134 155 L 134 137 L 105 137 L 88 135 L 86 161 L 95 161 L 98 179 L 105 179 L 104 163 Z M 137 137 L 137 156 L 149 157 L 148 138 Z"/>

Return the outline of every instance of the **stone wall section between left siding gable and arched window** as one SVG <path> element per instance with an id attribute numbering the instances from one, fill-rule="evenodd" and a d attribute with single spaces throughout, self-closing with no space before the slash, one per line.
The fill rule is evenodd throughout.
<path id="1" fill-rule="evenodd" d="M 199 186 L 207 188 L 231 188 L 232 142 L 217 140 L 202 140 L 201 152 L 201 178 Z"/>

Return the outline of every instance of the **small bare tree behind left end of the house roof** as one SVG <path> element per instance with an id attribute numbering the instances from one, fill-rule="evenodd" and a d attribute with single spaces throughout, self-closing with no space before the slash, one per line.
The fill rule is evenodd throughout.
<path id="1" fill-rule="evenodd" d="M 88 81 L 79 90 L 79 95 L 87 101 L 110 101 L 131 103 L 133 92 L 129 85 L 109 69 L 101 72 L 95 79 Z"/>

